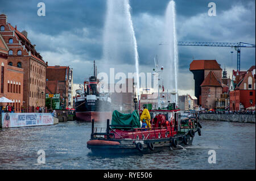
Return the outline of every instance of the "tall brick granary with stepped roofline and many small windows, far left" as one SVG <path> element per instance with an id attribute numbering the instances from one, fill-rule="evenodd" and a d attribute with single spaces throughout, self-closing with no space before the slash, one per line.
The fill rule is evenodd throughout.
<path id="1" fill-rule="evenodd" d="M 0 15 L 0 33 L 9 47 L 7 64 L 23 69 L 24 111 L 34 111 L 36 106 L 45 106 L 46 63 L 27 37 L 7 23 L 7 16 Z M 16 70 L 15 71 L 19 71 Z M 21 69 L 20 69 L 21 70 Z M 11 80 L 10 80 L 11 81 Z M 16 82 L 16 81 L 15 81 Z"/>

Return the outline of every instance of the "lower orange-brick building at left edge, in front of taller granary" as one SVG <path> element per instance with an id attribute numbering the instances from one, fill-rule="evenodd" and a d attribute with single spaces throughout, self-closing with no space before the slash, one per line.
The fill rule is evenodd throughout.
<path id="1" fill-rule="evenodd" d="M 14 103 L 3 103 L 3 105 L 9 104 L 15 108 L 15 112 L 20 112 L 23 106 L 23 69 L 8 65 L 8 52 L 9 48 L 0 34 L 0 97 L 5 96 L 13 100 Z"/>

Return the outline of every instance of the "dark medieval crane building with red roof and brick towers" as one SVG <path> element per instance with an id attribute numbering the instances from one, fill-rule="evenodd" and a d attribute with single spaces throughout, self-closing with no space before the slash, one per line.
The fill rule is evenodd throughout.
<path id="1" fill-rule="evenodd" d="M 222 73 L 222 69 L 220 68 L 220 65 L 217 63 L 216 60 L 193 60 L 189 66 L 189 70 L 192 71 L 193 73 L 193 78 L 195 80 L 195 96 L 197 98 L 197 104 L 198 105 L 210 105 L 209 103 L 205 103 L 203 101 L 208 101 L 208 99 L 206 99 L 205 95 L 204 95 L 204 100 L 202 98 L 202 88 L 204 89 L 204 92 L 207 93 L 207 91 L 210 91 L 210 94 L 214 94 L 211 91 L 215 91 L 215 88 L 213 87 L 213 85 L 211 86 L 206 86 L 206 83 L 204 83 L 203 87 L 201 87 L 201 84 L 204 82 L 204 79 L 207 78 L 208 74 L 210 72 L 212 72 L 210 75 L 210 78 L 214 77 L 214 83 L 217 82 L 222 82 L 221 79 L 221 73 Z M 215 80 L 216 79 L 216 80 Z M 208 78 L 208 83 L 210 82 L 209 78 Z M 212 82 L 211 82 L 212 83 Z M 211 84 L 210 83 L 210 84 Z M 212 87 L 212 88 L 210 88 Z M 217 91 L 218 89 L 216 89 Z M 220 91 L 220 90 L 218 90 Z M 217 95 L 217 94 L 216 94 Z M 209 100 L 210 102 L 212 102 L 212 100 Z M 214 100 L 215 102 L 215 100 Z M 210 106 L 212 107 L 214 104 L 211 104 Z M 213 107 L 212 107 L 213 108 Z"/>

